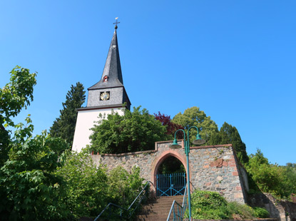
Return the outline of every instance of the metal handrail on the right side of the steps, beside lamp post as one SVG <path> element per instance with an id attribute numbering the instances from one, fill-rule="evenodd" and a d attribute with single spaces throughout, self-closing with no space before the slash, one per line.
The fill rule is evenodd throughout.
<path id="1" fill-rule="evenodd" d="M 170 212 L 168 213 L 167 221 L 170 221 L 171 215 L 173 215 L 172 217 L 173 221 L 182 221 L 187 207 L 188 207 L 188 204 L 187 204 L 187 187 L 186 187 L 184 196 L 183 196 L 182 205 L 178 204 L 178 202 L 175 202 L 175 200 L 173 201 L 172 206 L 170 207 Z"/>

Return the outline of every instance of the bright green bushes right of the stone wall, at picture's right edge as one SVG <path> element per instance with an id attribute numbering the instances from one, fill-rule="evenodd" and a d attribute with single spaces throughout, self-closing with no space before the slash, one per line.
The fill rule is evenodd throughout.
<path id="1" fill-rule="evenodd" d="M 296 190 L 296 171 L 268 163 L 260 150 L 250 155 L 246 165 L 247 172 L 262 192 L 270 192 L 277 197 L 289 198 Z"/>

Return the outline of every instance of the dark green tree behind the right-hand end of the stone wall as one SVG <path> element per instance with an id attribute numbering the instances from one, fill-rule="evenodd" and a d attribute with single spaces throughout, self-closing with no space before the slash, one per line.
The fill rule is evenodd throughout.
<path id="1" fill-rule="evenodd" d="M 220 128 L 219 134 L 221 139 L 220 143 L 231 143 L 238 155 L 238 159 L 240 160 L 240 162 L 247 163 L 249 158 L 247 156 L 245 143 L 243 143 L 242 139 L 240 138 L 240 133 L 238 133 L 238 129 L 225 122 Z"/>

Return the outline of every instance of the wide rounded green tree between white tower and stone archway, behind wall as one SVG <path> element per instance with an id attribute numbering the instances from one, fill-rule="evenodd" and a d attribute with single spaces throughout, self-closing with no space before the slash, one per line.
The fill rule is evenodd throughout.
<path id="1" fill-rule="evenodd" d="M 99 153 L 126 153 L 151 150 L 154 143 L 166 140 L 166 129 L 144 108 L 125 109 L 123 115 L 114 111 L 101 116 L 91 135 L 91 149 Z"/>

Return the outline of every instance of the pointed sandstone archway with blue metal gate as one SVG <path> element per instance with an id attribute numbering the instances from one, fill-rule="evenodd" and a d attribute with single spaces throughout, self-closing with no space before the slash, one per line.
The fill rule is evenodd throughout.
<path id="1" fill-rule="evenodd" d="M 175 150 L 167 150 L 154 160 L 151 180 L 156 195 L 183 195 L 187 178 L 185 165 L 185 155 Z"/>

